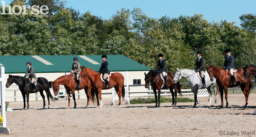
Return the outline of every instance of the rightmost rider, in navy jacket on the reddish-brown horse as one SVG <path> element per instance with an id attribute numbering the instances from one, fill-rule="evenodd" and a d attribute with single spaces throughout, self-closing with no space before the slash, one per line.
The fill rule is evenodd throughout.
<path id="1" fill-rule="evenodd" d="M 231 55 L 231 50 L 230 49 L 226 49 L 225 53 L 227 54 L 227 56 L 225 57 L 225 62 L 224 62 L 224 67 L 223 68 L 225 70 L 229 69 L 230 75 L 231 75 L 230 77 L 232 79 L 232 84 L 233 84 L 233 86 L 235 86 L 236 85 L 236 77 L 233 75 L 234 69 L 236 69 L 234 64 L 233 64 L 234 63 L 234 57 Z"/>

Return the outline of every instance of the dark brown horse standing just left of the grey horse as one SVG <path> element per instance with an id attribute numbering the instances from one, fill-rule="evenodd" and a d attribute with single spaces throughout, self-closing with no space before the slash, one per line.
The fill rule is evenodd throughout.
<path id="1" fill-rule="evenodd" d="M 161 87 L 163 84 L 163 80 L 159 77 L 158 72 L 156 70 L 150 70 L 148 74 L 144 72 L 144 75 L 145 75 L 145 88 L 148 88 L 149 84 L 152 86 L 152 89 L 155 94 L 155 99 L 156 99 L 155 107 L 160 107 L 160 94 L 161 94 Z M 181 90 L 180 90 L 180 83 L 179 82 L 173 83 L 172 79 L 174 77 L 174 72 L 167 72 L 166 76 L 168 80 L 168 85 L 164 85 L 163 89 L 169 88 L 170 92 L 172 93 L 172 105 L 177 105 L 177 90 L 179 95 L 182 96 Z M 174 92 L 172 90 L 173 87 L 175 90 L 175 97 L 174 97 Z M 156 90 L 158 91 L 158 105 L 157 105 Z"/>

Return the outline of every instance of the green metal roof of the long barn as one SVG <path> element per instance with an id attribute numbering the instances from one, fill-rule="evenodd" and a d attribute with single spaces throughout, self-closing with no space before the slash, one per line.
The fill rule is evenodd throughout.
<path id="1" fill-rule="evenodd" d="M 34 57 L 33 57 L 34 56 Z M 0 56 L 0 67 L 4 66 L 5 73 L 25 73 L 28 68 L 26 63 L 31 61 L 35 68 L 36 73 L 49 73 L 49 72 L 70 72 L 73 58 L 78 57 L 78 62 L 81 66 L 92 68 L 95 71 L 100 69 L 102 58 L 101 55 L 33 55 L 33 56 Z M 52 65 L 46 65 L 42 61 L 37 60 L 35 57 L 43 58 L 50 62 Z M 93 64 L 82 57 L 98 62 Z M 133 61 L 123 55 L 107 55 L 108 56 L 108 70 L 109 71 L 147 71 L 150 68 Z"/>

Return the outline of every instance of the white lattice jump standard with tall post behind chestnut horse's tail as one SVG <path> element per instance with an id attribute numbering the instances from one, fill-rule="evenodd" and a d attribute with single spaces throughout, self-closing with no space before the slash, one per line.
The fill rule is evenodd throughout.
<path id="1" fill-rule="evenodd" d="M 125 98 L 127 99 L 127 101 L 125 102 L 125 104 L 130 104 L 129 102 L 129 80 L 128 80 L 128 71 L 126 71 L 126 76 L 124 77 L 124 79 L 126 79 L 126 87 L 124 87 L 125 90 Z M 123 99 L 123 97 L 121 98 Z M 112 88 L 112 102 L 111 105 L 115 105 L 115 100 L 119 100 L 119 97 L 116 93 L 115 88 Z"/>

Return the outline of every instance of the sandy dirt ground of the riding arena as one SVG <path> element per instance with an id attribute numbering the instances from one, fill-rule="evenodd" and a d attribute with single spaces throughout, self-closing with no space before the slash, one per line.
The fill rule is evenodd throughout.
<path id="1" fill-rule="evenodd" d="M 11 135 L 0 136 L 256 136 L 256 115 L 253 114 L 256 93 L 250 94 L 247 108 L 243 107 L 243 94 L 229 94 L 228 108 L 220 109 L 219 96 L 217 106 L 213 106 L 214 102 L 207 106 L 208 97 L 199 97 L 199 101 L 196 108 L 192 102 L 177 103 L 177 106 L 162 103 L 157 108 L 155 104 L 125 105 L 122 102 L 121 107 L 116 107 L 110 105 L 108 98 L 103 99 L 100 109 L 92 104 L 85 107 L 87 100 L 80 99 L 76 100 L 76 109 L 67 109 L 68 101 L 62 100 L 51 102 L 52 108 L 44 110 L 42 101 L 31 101 L 28 110 L 22 110 L 23 102 L 11 102 L 13 111 L 6 113 Z M 74 106 L 73 100 L 71 106 Z"/>

